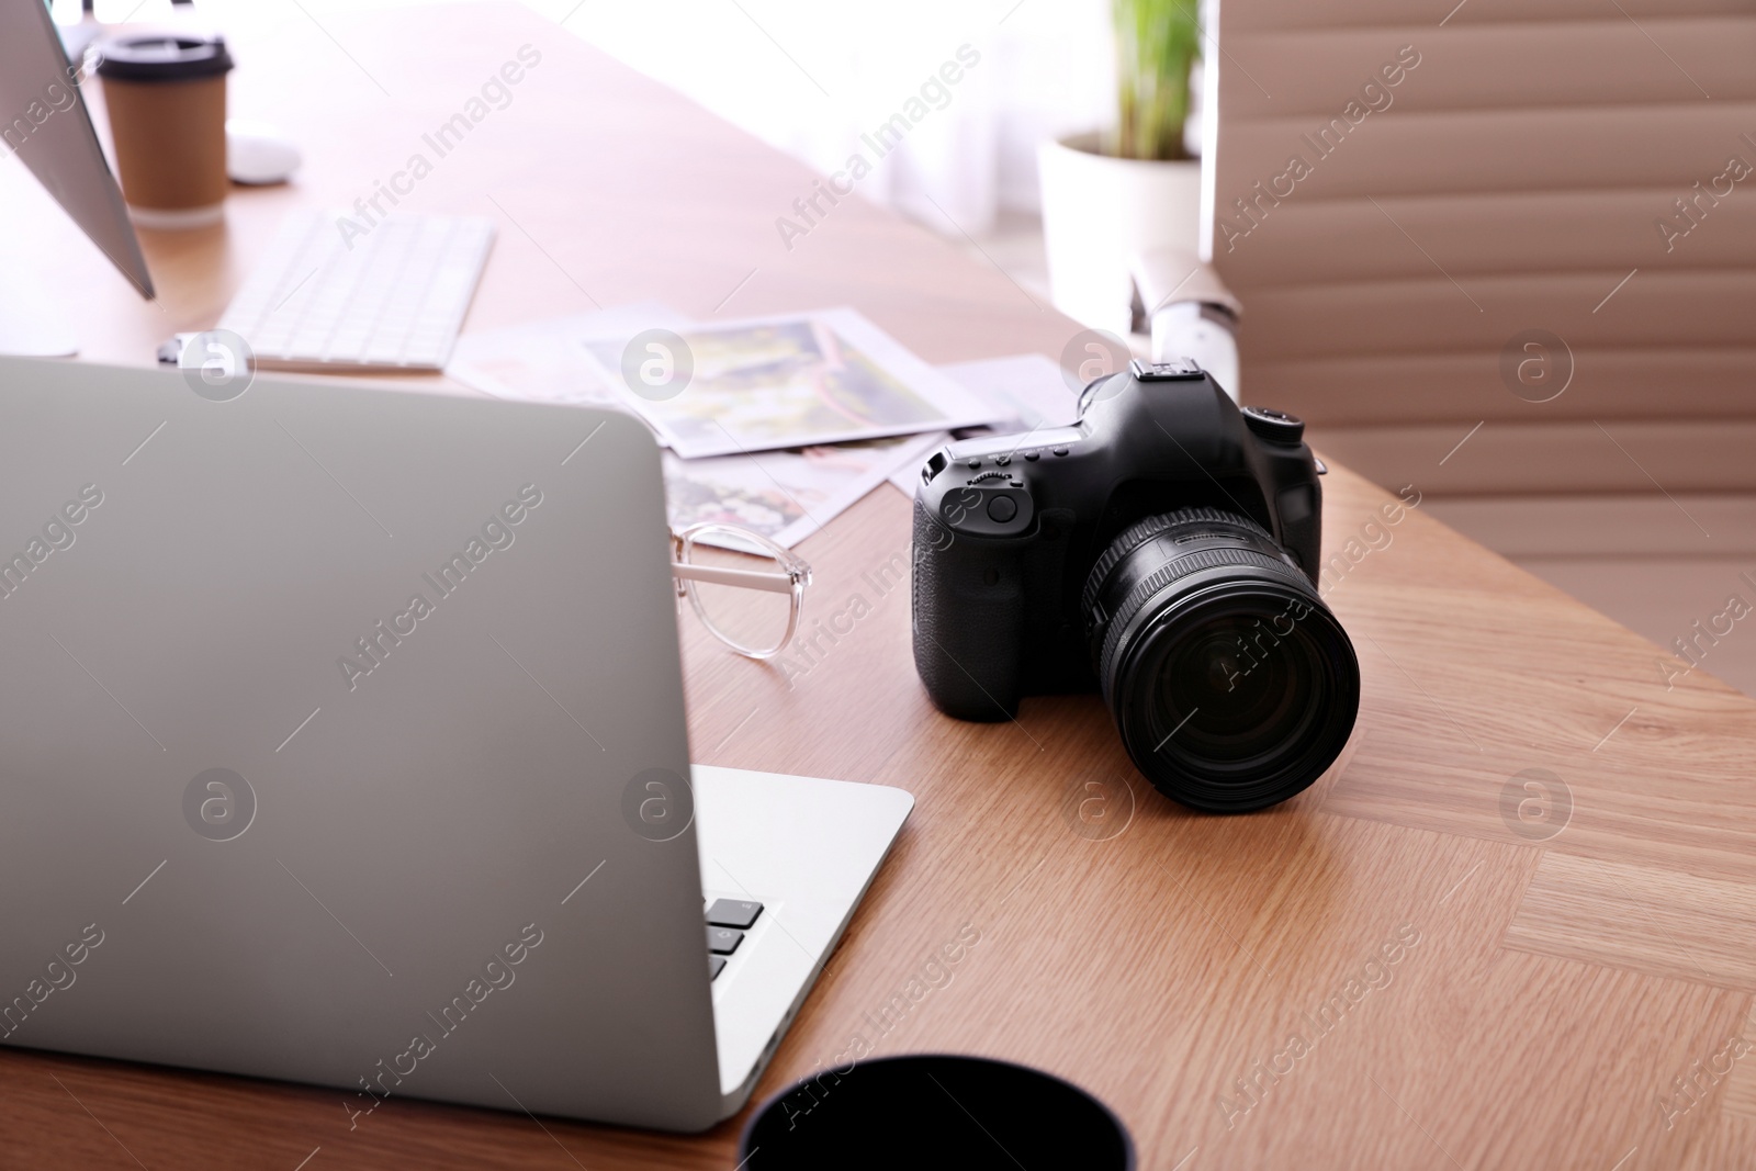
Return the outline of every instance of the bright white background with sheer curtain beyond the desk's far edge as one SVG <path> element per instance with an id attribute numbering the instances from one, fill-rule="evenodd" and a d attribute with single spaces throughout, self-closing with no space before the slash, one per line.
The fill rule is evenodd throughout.
<path id="1" fill-rule="evenodd" d="M 860 193 L 982 235 L 999 207 L 1036 209 L 1036 144 L 1110 118 L 1108 0 L 523 0 L 609 54 L 831 174 L 969 44 L 982 60 Z M 234 4 L 200 7 L 223 26 Z M 327 12 L 411 0 L 300 0 Z M 54 0 L 74 19 L 79 0 Z M 169 0 L 98 0 L 98 18 L 156 19 Z M 939 214 L 955 221 L 955 228 Z"/>

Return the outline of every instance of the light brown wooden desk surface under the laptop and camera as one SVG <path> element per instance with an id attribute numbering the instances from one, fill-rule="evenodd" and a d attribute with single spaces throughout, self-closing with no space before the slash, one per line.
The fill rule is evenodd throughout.
<path id="1" fill-rule="evenodd" d="M 657 297 L 699 316 L 852 304 L 936 362 L 1059 355 L 1075 332 L 853 200 L 787 251 L 773 221 L 810 190 L 802 167 L 522 9 L 325 23 L 239 30 L 239 112 L 283 121 L 311 163 L 293 190 L 235 197 L 228 230 L 148 241 L 163 313 L 16 165 L 0 174 L 12 223 L 68 253 L 90 356 L 142 362 L 211 325 L 283 209 L 369 193 L 527 42 L 541 67 L 409 200 L 500 216 L 471 328 Z M 1317 787 L 1257 816 L 1157 797 L 1090 697 L 1015 723 L 938 716 L 906 590 L 874 585 L 908 560 L 890 488 L 802 548 L 813 618 L 869 609 L 802 674 L 685 623 L 699 760 L 918 797 L 759 1097 L 859 1032 L 1064 1074 L 1122 1115 L 1143 1167 L 1747 1166 L 1756 1053 L 1731 1053 L 1756 1039 L 1756 706 L 1700 672 L 1666 690 L 1658 648 L 1419 509 L 1368 528 L 1387 497 L 1343 469 L 1328 488 L 1326 548 L 1357 557 L 1329 599 L 1361 655 L 1359 729 Z M 1547 827 L 1515 813 L 1540 792 L 1514 781 L 1528 769 L 1570 794 L 1545 841 L 1556 804 Z M 1113 839 L 1064 816 L 1092 783 L 1133 788 Z M 878 1036 L 871 1018 L 966 923 L 980 943 L 952 981 Z M 673 1138 L 392 1099 L 349 1132 L 332 1090 L 0 1055 L 9 1166 L 730 1167 L 739 1122 Z"/>

